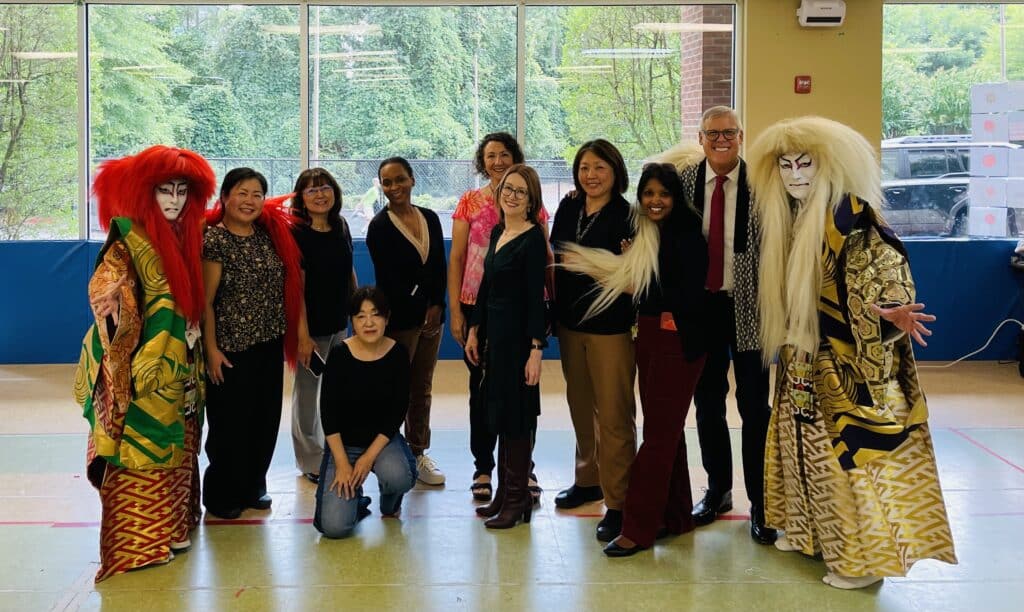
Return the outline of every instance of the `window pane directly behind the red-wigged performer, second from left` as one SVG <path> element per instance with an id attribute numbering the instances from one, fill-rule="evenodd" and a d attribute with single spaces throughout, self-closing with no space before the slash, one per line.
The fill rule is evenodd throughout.
<path id="1" fill-rule="evenodd" d="M 206 157 L 218 179 L 249 166 L 266 176 L 271 194 L 291 190 L 299 172 L 298 7 L 88 9 L 93 169 L 165 143 Z M 90 234 L 101 236 L 94 221 Z"/>

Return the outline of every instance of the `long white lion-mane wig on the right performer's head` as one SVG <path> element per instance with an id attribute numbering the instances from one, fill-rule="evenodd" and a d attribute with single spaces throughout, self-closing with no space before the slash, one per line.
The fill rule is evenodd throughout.
<path id="1" fill-rule="evenodd" d="M 786 154 L 808 154 L 817 165 L 803 204 L 790 196 L 779 174 L 778 158 Z M 847 193 L 880 206 L 882 180 L 867 140 L 822 117 L 786 119 L 768 127 L 751 147 L 748 162 L 762 225 L 758 295 L 762 356 L 768 364 L 786 344 L 817 351 L 826 213 Z"/>

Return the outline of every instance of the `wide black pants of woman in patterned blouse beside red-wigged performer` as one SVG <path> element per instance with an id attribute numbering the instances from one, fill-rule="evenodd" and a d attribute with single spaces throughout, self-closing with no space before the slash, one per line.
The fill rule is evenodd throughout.
<path id="1" fill-rule="evenodd" d="M 206 382 L 210 466 L 203 477 L 203 505 L 213 514 L 247 508 L 266 493 L 284 392 L 281 339 L 224 356 L 233 364 L 221 368 L 224 382 Z"/>

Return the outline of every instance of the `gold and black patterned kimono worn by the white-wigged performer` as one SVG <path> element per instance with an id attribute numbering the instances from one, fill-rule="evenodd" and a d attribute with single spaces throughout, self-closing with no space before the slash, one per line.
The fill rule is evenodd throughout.
<path id="1" fill-rule="evenodd" d="M 871 304 L 912 303 L 899 239 L 846 198 L 825 224 L 816 355 L 785 347 L 765 451 L 765 519 L 845 576 L 956 563 L 910 338 Z"/>

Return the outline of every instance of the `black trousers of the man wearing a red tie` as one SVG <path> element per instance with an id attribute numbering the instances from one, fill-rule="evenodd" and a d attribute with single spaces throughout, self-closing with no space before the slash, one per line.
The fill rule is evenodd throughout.
<path id="1" fill-rule="evenodd" d="M 761 351 L 736 350 L 736 317 L 732 298 L 725 292 L 708 295 L 711 320 L 708 360 L 697 383 L 697 439 L 700 461 L 708 473 L 708 489 L 717 494 L 732 490 L 732 447 L 725 420 L 729 393 L 729 361 L 736 378 L 736 405 L 742 419 L 743 483 L 751 504 L 764 506 L 765 439 L 768 436 L 768 368 Z"/>

